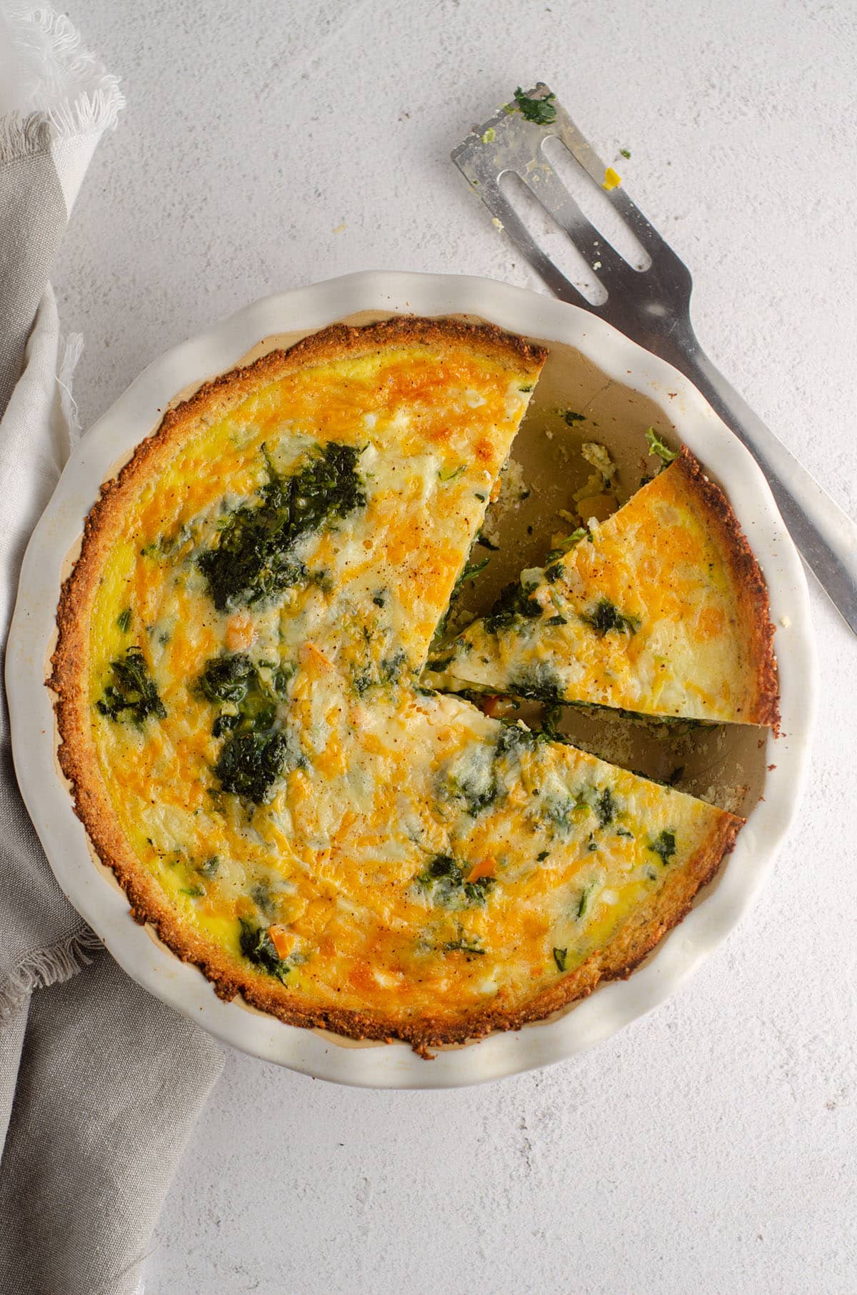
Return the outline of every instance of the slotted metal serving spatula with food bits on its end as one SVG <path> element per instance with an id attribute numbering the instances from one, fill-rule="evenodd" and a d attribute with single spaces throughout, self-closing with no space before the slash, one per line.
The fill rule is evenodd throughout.
<path id="1" fill-rule="evenodd" d="M 857 526 L 704 355 L 690 322 L 687 267 L 625 189 L 618 184 L 610 186 L 614 176 L 548 85 L 539 82 L 535 89 L 527 95 L 518 92 L 515 98 L 515 104 L 500 109 L 454 149 L 453 162 L 557 297 L 614 324 L 647 351 L 674 364 L 702 391 L 752 453 L 804 561 L 857 633 Z M 647 269 L 633 269 L 584 216 L 545 157 L 542 145 L 551 137 L 559 139 L 575 162 L 606 192 L 615 211 L 651 258 Z M 500 177 L 507 171 L 519 176 L 586 259 L 607 291 L 603 304 L 588 302 L 539 247 L 500 189 Z"/>

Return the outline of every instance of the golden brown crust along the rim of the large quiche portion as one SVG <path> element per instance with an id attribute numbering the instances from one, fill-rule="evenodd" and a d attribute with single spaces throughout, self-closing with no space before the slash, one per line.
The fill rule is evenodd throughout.
<path id="1" fill-rule="evenodd" d="M 501 1002 L 496 1002 L 492 1008 L 454 1020 L 423 1015 L 413 1022 L 383 1019 L 369 1013 L 334 1008 L 313 1008 L 271 976 L 250 966 L 237 969 L 234 960 L 225 951 L 198 932 L 188 930 L 164 900 L 154 878 L 140 869 L 118 826 L 96 759 L 89 721 L 89 611 L 104 561 L 122 524 L 126 502 L 140 480 L 166 465 L 177 444 L 194 429 L 221 417 L 243 400 L 260 379 L 276 381 L 293 366 L 321 363 L 344 352 L 360 354 L 405 341 L 426 344 L 444 339 L 473 342 L 476 337 L 483 348 L 495 350 L 498 357 L 514 359 L 518 365 L 523 361 L 537 370 L 544 361 L 545 352 L 540 347 L 510 337 L 491 325 L 399 317 L 361 329 L 334 325 L 306 338 L 289 351 L 273 351 L 246 369 L 236 369 L 206 382 L 189 400 L 168 411 L 158 430 L 137 447 L 120 473 L 102 486 L 101 496 L 87 517 L 80 557 L 60 597 L 57 610 L 60 637 L 48 681 L 56 694 L 60 765 L 71 785 L 75 813 L 84 824 L 97 856 L 113 869 L 127 894 L 135 921 L 150 923 L 163 943 L 183 961 L 195 963 L 212 982 L 219 997 L 227 1001 L 242 995 L 251 1006 L 287 1024 L 321 1027 L 359 1040 L 400 1039 L 422 1055 L 427 1055 L 430 1048 L 466 1042 L 492 1031 L 518 1030 L 585 997 L 601 980 L 629 975 L 663 935 L 685 917 L 696 891 L 715 875 L 724 855 L 734 844 L 740 820 L 724 815 L 708 842 L 689 864 L 668 877 L 660 894 L 641 909 L 633 921 L 625 923 L 608 945 L 593 953 L 583 966 L 522 1008 L 504 1009 Z M 734 554 L 735 569 L 742 571 L 743 579 L 750 578 L 751 584 L 753 579 L 759 581 L 753 585 L 755 605 L 761 606 L 764 598 L 766 609 L 764 583 L 729 505 L 717 487 L 702 477 L 699 465 L 686 452 L 684 461 L 684 470 L 694 479 L 700 478 L 702 488 L 711 500 L 712 512 L 722 518 L 724 534 L 729 539 L 729 552 Z M 759 619 L 762 625 L 766 624 L 766 615 Z M 768 654 L 760 646 L 760 657 L 764 659 L 770 657 L 769 640 L 766 642 Z M 775 686 L 773 657 L 770 668 L 774 671 L 772 677 Z M 773 704 L 775 707 L 775 701 Z"/>

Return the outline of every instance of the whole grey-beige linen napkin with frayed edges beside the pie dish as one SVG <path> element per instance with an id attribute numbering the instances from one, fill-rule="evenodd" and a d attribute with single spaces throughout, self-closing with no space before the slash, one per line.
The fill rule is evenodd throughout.
<path id="1" fill-rule="evenodd" d="M 0 651 L 75 433 L 80 339 L 61 346 L 48 277 L 122 107 L 67 18 L 0 0 Z M 223 1053 L 129 980 L 60 891 L 0 694 L 0 1291 L 129 1295 Z"/>

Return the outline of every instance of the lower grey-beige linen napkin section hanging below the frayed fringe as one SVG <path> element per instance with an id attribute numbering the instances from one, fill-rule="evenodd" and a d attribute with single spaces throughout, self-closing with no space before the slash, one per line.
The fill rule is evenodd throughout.
<path id="1" fill-rule="evenodd" d="M 139 1290 L 151 1229 L 220 1064 L 214 1039 L 107 953 L 34 995 L 0 1167 L 0 1291 Z"/>

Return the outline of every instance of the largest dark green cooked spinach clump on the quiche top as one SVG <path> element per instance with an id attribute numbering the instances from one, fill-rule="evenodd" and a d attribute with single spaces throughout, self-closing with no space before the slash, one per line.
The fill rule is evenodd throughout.
<path id="1" fill-rule="evenodd" d="M 296 544 L 333 518 L 347 517 L 366 504 L 355 445 L 330 442 L 291 477 L 280 475 L 265 447 L 263 452 L 268 480 L 258 491 L 259 502 L 228 514 L 216 548 L 197 558 L 217 611 L 306 584 L 311 578 L 295 558 Z"/>

